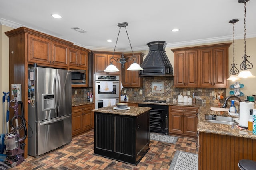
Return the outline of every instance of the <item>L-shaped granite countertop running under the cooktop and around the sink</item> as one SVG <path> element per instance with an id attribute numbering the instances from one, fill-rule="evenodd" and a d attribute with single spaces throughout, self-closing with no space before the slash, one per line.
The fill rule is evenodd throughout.
<path id="1" fill-rule="evenodd" d="M 138 103 L 138 104 L 140 103 L 141 104 L 157 104 L 157 103 L 143 102 L 143 100 L 128 100 L 128 101 L 122 101 L 122 102 Z M 197 125 L 197 131 L 199 132 L 256 139 L 256 135 L 254 135 L 252 131 L 248 131 L 247 129 L 244 130 L 238 127 L 238 125 L 224 125 L 224 124 L 210 123 L 205 121 L 205 115 L 219 115 L 219 116 L 234 117 L 234 116 L 228 115 L 228 112 L 211 111 L 210 109 L 211 107 L 219 107 L 216 104 L 168 102 L 167 104 L 158 104 L 158 105 L 199 107 L 198 125 Z"/>

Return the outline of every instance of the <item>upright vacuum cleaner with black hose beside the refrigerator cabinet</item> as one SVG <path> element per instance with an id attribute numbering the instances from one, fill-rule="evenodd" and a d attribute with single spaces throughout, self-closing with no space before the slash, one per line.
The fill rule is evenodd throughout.
<path id="1" fill-rule="evenodd" d="M 19 115 L 18 111 L 19 105 L 21 106 L 21 115 Z M 4 138 L 7 155 L 4 163 L 11 167 L 14 167 L 25 160 L 24 156 L 22 156 L 24 153 L 25 143 L 21 142 L 24 141 L 27 137 L 27 128 L 26 121 L 24 119 L 24 108 L 22 101 L 17 102 L 16 99 L 13 99 L 10 101 L 9 107 L 14 109 L 14 117 L 10 121 L 10 127 L 12 132 L 8 133 Z M 13 125 L 13 122 L 15 122 L 15 126 Z M 20 136 L 21 130 L 24 130 L 23 137 Z"/>

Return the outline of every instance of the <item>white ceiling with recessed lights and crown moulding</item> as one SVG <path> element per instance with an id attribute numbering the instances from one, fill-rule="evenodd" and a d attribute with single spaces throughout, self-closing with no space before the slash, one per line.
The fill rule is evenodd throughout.
<path id="1" fill-rule="evenodd" d="M 256 37 L 256 0 L 246 3 L 246 38 Z M 52 18 L 59 14 L 62 19 Z M 148 50 L 150 41 L 167 47 L 214 43 L 244 38 L 244 4 L 238 0 L 2 0 L 0 23 L 28 27 L 76 45 L 112 51 L 118 23 L 128 22 L 133 51 Z M 79 33 L 73 27 L 87 31 Z M 178 28 L 180 31 L 172 32 Z M 111 43 L 106 42 L 112 39 Z M 131 51 L 122 28 L 116 51 Z"/>

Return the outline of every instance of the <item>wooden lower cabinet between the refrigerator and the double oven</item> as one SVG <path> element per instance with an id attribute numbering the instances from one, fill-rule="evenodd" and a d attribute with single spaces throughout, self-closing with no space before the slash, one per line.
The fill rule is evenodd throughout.
<path id="1" fill-rule="evenodd" d="M 72 136 L 88 131 L 94 126 L 93 104 L 72 107 Z"/>

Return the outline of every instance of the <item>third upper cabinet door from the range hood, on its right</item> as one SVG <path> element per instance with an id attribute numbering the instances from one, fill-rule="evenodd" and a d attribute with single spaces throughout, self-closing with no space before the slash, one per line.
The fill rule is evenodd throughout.
<path id="1" fill-rule="evenodd" d="M 200 51 L 200 86 L 213 86 L 212 49 Z"/>

